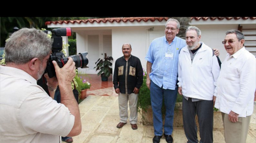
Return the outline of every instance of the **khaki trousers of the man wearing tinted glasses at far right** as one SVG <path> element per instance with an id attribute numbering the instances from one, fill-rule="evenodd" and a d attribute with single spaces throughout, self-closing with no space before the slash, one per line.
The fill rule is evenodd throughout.
<path id="1" fill-rule="evenodd" d="M 238 117 L 238 122 L 233 123 L 228 119 L 228 114 L 222 113 L 222 120 L 226 143 L 246 143 L 251 116 Z"/>

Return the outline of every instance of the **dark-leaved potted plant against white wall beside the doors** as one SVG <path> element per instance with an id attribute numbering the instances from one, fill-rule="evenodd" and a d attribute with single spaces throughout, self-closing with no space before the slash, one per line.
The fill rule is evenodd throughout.
<path id="1" fill-rule="evenodd" d="M 112 66 L 111 60 L 113 60 L 113 58 L 107 56 L 107 53 L 105 53 L 103 59 L 98 59 L 97 62 L 95 62 L 96 67 L 94 68 L 96 68 L 96 71 L 100 70 L 98 76 L 101 76 L 101 81 L 108 81 L 110 74 L 112 74 L 112 68 L 110 68 Z"/>

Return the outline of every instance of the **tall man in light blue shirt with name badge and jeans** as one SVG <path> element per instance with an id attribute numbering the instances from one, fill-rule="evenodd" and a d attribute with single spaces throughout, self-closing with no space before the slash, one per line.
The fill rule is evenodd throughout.
<path id="1" fill-rule="evenodd" d="M 177 98 L 178 58 L 186 41 L 176 35 L 180 23 L 176 19 L 168 19 L 165 26 L 165 36 L 156 38 L 149 46 L 145 59 L 147 60 L 147 87 L 150 89 L 150 99 L 153 111 L 154 133 L 153 143 L 159 143 L 163 134 L 162 103 L 166 107 L 164 134 L 167 143 L 172 143 L 174 107 Z M 218 50 L 215 54 L 219 54 Z"/>

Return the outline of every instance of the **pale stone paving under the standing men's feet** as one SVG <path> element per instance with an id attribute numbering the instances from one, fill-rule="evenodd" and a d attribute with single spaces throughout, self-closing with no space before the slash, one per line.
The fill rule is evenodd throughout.
<path id="1" fill-rule="evenodd" d="M 140 113 L 138 114 L 137 130 L 132 130 L 129 122 L 120 129 L 116 127 L 119 123 L 119 107 L 118 96 L 113 87 L 87 92 L 91 95 L 79 104 L 82 132 L 79 136 L 73 137 L 73 143 L 152 143 L 154 137 L 153 125 L 143 125 Z M 223 130 L 214 130 L 213 142 L 225 143 L 223 135 Z M 185 143 L 187 140 L 183 128 L 174 128 L 172 136 L 174 143 Z M 254 105 L 254 113 L 251 117 L 246 143 L 255 142 L 256 115 Z M 62 141 L 62 143 L 65 142 Z M 160 143 L 166 143 L 164 137 L 162 137 Z"/>

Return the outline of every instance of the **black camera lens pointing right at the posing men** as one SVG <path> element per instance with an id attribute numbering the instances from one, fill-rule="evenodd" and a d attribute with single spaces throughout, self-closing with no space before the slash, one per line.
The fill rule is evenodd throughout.
<path id="1" fill-rule="evenodd" d="M 88 68 L 87 64 L 88 64 L 88 59 L 86 58 L 86 55 L 88 54 L 88 52 L 81 52 L 77 55 L 73 55 L 73 56 L 69 56 L 73 59 L 73 61 L 75 62 L 75 66 L 76 68 Z"/>

